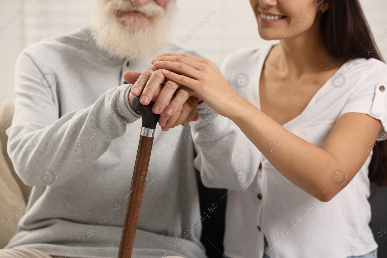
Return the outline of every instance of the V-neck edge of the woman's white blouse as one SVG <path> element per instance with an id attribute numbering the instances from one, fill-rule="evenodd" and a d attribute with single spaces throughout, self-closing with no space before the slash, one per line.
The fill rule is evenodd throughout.
<path id="1" fill-rule="evenodd" d="M 257 103 L 258 103 L 258 108 L 261 110 L 261 99 L 259 97 L 259 86 L 260 86 L 260 79 L 261 79 L 261 75 L 262 75 L 262 69 L 263 69 L 263 66 L 264 66 L 264 63 L 267 59 L 267 56 L 269 56 L 269 53 L 271 51 L 271 49 L 276 46 L 276 44 L 271 44 L 271 47 L 267 48 L 266 52 L 265 52 L 265 55 L 264 55 L 264 59 L 260 60 L 260 62 L 258 64 L 255 64 L 255 68 L 258 68 L 258 72 L 256 73 L 257 74 L 257 78 L 256 78 L 256 81 L 258 83 L 257 87 L 255 87 L 254 89 L 254 93 L 255 95 L 257 95 Z M 347 63 L 351 62 L 352 60 L 348 60 L 347 62 L 343 63 L 337 70 L 336 72 L 333 74 L 335 75 L 336 73 L 338 72 L 342 72 L 342 69 L 346 66 Z M 253 70 L 255 70 L 255 68 L 253 68 Z M 332 75 L 332 76 L 333 76 Z M 291 123 L 293 123 L 301 114 L 303 114 L 307 108 L 309 108 L 310 106 L 312 106 L 313 104 L 317 104 L 321 99 L 322 97 L 324 97 L 326 94 L 328 94 L 328 92 L 330 91 L 333 91 L 334 88 L 332 85 L 332 89 L 330 89 L 330 91 L 327 91 L 325 92 L 325 94 L 323 96 L 321 96 L 317 101 L 317 97 L 320 96 L 322 94 L 323 91 L 326 91 L 328 85 L 329 85 L 329 82 L 331 80 L 331 77 L 329 77 L 329 79 L 320 87 L 320 89 L 313 95 L 313 97 L 310 99 L 309 103 L 307 104 L 307 106 L 303 109 L 303 111 L 298 114 L 295 118 L 292 118 L 291 120 L 287 121 L 286 123 L 284 123 L 282 126 L 285 127 L 286 125 L 289 125 Z"/>

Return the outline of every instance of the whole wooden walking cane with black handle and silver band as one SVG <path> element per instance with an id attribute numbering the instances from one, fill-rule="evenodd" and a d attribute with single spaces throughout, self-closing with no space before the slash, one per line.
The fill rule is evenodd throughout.
<path id="1" fill-rule="evenodd" d="M 126 208 L 125 220 L 123 222 L 120 249 L 118 258 L 132 257 L 134 237 L 139 220 L 142 195 L 144 193 L 146 175 L 148 172 L 149 159 L 151 158 L 154 129 L 159 120 L 159 114 L 152 112 L 154 102 L 147 106 L 140 103 L 139 97 L 132 100 L 132 109 L 139 111 L 142 115 L 142 127 L 139 148 L 137 149 L 136 162 L 134 163 L 132 184 Z"/>

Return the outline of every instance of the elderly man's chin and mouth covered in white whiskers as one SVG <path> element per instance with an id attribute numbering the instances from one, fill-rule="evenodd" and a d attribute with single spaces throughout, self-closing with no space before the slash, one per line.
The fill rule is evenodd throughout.
<path id="1" fill-rule="evenodd" d="M 168 44 L 174 20 L 170 9 L 166 9 L 165 13 L 152 7 L 147 12 L 135 9 L 125 11 L 116 7 L 106 9 L 101 2 L 99 8 L 93 10 L 92 34 L 96 37 L 96 43 L 111 56 L 141 60 L 158 54 Z M 116 14 L 115 18 L 108 18 L 113 13 Z M 111 20 L 109 24 L 106 23 L 107 19 Z"/>

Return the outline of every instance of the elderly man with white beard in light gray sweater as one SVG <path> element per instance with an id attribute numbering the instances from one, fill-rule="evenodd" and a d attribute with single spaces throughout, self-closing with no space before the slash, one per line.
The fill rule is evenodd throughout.
<path id="1" fill-rule="evenodd" d="M 170 51 L 174 6 L 96 0 L 90 27 L 23 50 L 15 76 L 22 111 L 7 130 L 8 152 L 33 190 L 0 257 L 117 257 L 141 128 L 123 73 L 149 75 L 151 58 Z M 154 135 L 134 258 L 206 257 L 194 145 L 189 126 L 179 125 L 197 119 L 197 103 L 188 98 L 173 116 L 159 110 L 171 129 Z"/>

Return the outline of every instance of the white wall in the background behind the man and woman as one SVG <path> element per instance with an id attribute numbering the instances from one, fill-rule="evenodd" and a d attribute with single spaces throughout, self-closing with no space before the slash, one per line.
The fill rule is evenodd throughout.
<path id="1" fill-rule="evenodd" d="M 0 35 L 0 101 L 14 98 L 14 66 L 19 51 L 42 38 L 70 33 L 87 26 L 91 1 L 0 0 L 1 26 L 17 10 L 24 12 L 16 24 Z M 387 1 L 360 2 L 375 38 L 380 38 L 381 34 L 387 37 Z M 185 48 L 195 50 L 219 65 L 233 50 L 268 44 L 259 38 L 248 0 L 178 0 L 171 42 L 179 43 L 211 10 L 216 14 L 210 23 L 200 29 L 185 44 Z M 379 47 L 387 58 L 387 39 Z"/>

